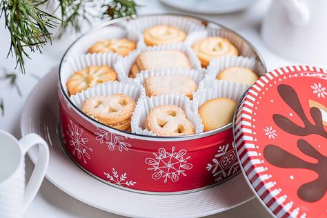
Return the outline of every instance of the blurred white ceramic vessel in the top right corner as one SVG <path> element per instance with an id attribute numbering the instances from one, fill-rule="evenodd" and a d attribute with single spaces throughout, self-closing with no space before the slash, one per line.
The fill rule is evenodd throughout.
<path id="1" fill-rule="evenodd" d="M 261 37 L 281 56 L 326 63 L 326 0 L 273 0 L 261 23 Z"/>

